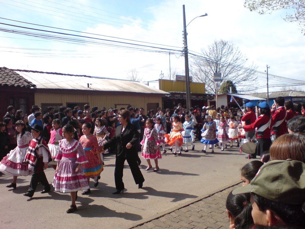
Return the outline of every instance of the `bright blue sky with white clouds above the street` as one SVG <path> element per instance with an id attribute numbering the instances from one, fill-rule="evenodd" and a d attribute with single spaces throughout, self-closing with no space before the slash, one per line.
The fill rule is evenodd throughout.
<path id="1" fill-rule="evenodd" d="M 187 26 L 190 52 L 200 53 L 215 40 L 223 39 L 233 42 L 247 57 L 246 65 L 253 63 L 260 72 L 264 72 L 268 65 L 269 74 L 285 77 L 279 79 L 269 76 L 269 91 L 280 91 L 281 87 L 272 85 L 290 83 L 286 78 L 305 80 L 305 36 L 297 23 L 287 23 L 283 20 L 286 13 L 292 11 L 281 10 L 259 15 L 246 9 L 243 2 L 0 0 L 0 17 L 5 18 L 0 19 L 0 23 L 4 23 L 0 24 L 0 66 L 116 79 L 127 79 L 131 71 L 135 70 L 142 81 L 157 80 L 161 71 L 164 75 L 169 75 L 170 71 L 184 75 L 184 57 L 181 51 L 182 5 L 185 5 L 186 24 L 196 16 L 208 14 L 196 18 Z M 42 39 L 17 34 L 16 31 L 52 33 L 12 25 L 91 38 L 81 43 Z M 7 30 L 14 30 L 15 33 Z M 55 33 L 52 35 L 61 36 Z M 95 43 L 89 44 L 88 41 Z M 173 51 L 131 44 L 162 47 Z M 191 58 L 189 62 L 192 62 Z M 257 77 L 257 81 L 253 82 L 259 85 L 257 92 L 266 92 L 266 75 L 260 73 Z M 157 83 L 149 82 L 149 85 L 158 88 Z"/>

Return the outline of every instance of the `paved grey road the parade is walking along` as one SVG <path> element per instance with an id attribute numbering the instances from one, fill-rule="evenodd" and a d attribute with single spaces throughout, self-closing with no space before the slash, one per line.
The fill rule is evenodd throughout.
<path id="1" fill-rule="evenodd" d="M 69 194 L 53 191 L 41 194 L 42 187 L 38 185 L 34 197 L 29 199 L 22 195 L 27 191 L 29 176 L 20 177 L 17 189 L 13 191 L 5 187 L 11 182 L 11 177 L 1 176 L 0 225 L 8 229 L 131 228 L 239 183 L 240 168 L 248 162 L 245 154 L 239 154 L 239 148 L 228 148 L 227 151 L 218 148 L 214 154 L 203 154 L 202 147 L 203 144 L 196 143 L 194 152 L 181 156 L 163 154 L 157 173 L 144 171 L 147 163 L 142 161 L 145 178 L 142 189 L 135 185 L 128 165 L 125 165 L 123 180 L 126 190 L 119 195 L 111 193 L 115 191 L 115 158 L 106 156 L 99 186 L 93 188 L 91 182 L 91 194 L 79 195 L 78 210 L 69 215 L 66 214 L 70 205 Z M 51 183 L 54 170 L 46 169 L 46 176 Z"/>

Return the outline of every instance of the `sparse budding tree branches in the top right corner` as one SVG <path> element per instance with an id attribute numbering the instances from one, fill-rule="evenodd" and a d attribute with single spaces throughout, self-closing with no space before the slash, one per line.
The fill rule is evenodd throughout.
<path id="1" fill-rule="evenodd" d="M 304 31 L 305 28 L 305 1 L 304 0 L 245 0 L 244 6 L 250 11 L 259 14 L 271 14 L 274 10 L 293 9 L 294 13 L 286 13 L 287 22 L 298 22 Z"/>

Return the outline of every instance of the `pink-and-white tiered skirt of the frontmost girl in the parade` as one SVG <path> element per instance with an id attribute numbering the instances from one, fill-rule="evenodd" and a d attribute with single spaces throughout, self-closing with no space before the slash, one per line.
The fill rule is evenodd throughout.
<path id="1" fill-rule="evenodd" d="M 74 192 L 87 191 L 89 189 L 87 177 L 82 169 L 75 173 L 77 167 L 76 157 L 63 157 L 59 162 L 57 172 L 55 172 L 52 182 L 55 191 L 59 192 Z"/>

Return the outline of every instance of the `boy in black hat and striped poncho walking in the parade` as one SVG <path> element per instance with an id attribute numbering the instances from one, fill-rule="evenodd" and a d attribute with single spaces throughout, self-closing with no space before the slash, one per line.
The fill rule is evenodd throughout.
<path id="1" fill-rule="evenodd" d="M 30 198 L 34 195 L 38 182 L 44 186 L 43 191 L 41 191 L 42 194 L 51 190 L 43 170 L 44 168 L 48 168 L 51 154 L 45 140 L 40 136 L 41 133 L 43 133 L 43 128 L 40 125 L 35 124 L 31 127 L 33 140 L 31 140 L 27 154 L 23 159 L 23 164 L 29 164 L 29 171 L 33 172 L 30 187 L 27 192 L 23 194 Z"/>

